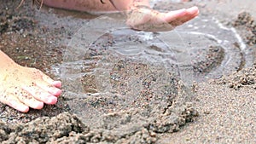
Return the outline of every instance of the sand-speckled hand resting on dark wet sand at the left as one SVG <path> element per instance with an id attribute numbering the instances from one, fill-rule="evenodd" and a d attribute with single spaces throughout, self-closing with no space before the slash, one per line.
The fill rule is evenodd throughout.
<path id="1" fill-rule="evenodd" d="M 11 63 L 1 67 L 0 74 L 0 101 L 20 112 L 55 104 L 61 95 L 61 82 L 38 69 Z"/>

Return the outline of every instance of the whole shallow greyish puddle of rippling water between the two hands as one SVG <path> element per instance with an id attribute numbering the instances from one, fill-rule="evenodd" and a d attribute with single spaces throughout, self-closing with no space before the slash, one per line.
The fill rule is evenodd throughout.
<path id="1" fill-rule="evenodd" d="M 96 92 L 106 92 L 111 85 L 109 72 L 124 59 L 162 67 L 176 73 L 185 84 L 220 78 L 253 64 L 253 51 L 246 48 L 236 30 L 214 17 L 199 16 L 172 32 L 153 33 L 133 31 L 125 26 L 122 15 L 113 15 L 90 20 L 80 28 L 69 43 L 63 63 L 52 67 L 71 91 L 84 94 L 79 79 L 90 74 L 96 77 Z M 212 46 L 221 50 L 211 53 Z M 208 60 L 214 56 L 216 59 Z"/>

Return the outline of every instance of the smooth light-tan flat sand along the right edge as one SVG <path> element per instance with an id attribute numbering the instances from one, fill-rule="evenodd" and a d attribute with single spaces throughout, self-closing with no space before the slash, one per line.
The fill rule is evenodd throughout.
<path id="1" fill-rule="evenodd" d="M 224 24 L 236 27 L 248 49 L 255 49 L 255 9 L 252 1 L 201 3 L 202 14 L 214 14 Z M 217 6 L 218 5 L 218 6 Z M 239 5 L 243 5 L 240 7 Z M 251 5 L 251 6 L 250 6 Z M 241 18 L 242 11 L 252 14 Z M 240 14 L 240 16 L 238 15 Z M 240 17 L 240 18 L 239 18 Z M 237 23 L 238 22 L 238 23 Z M 243 23 L 243 24 L 241 24 Z M 253 25 L 251 25 L 253 23 Z M 254 53 L 255 54 L 255 53 Z M 199 83 L 194 105 L 195 122 L 158 141 L 159 143 L 255 143 L 255 67 L 242 68 L 229 76 Z"/>

